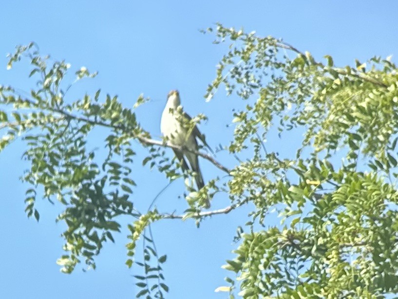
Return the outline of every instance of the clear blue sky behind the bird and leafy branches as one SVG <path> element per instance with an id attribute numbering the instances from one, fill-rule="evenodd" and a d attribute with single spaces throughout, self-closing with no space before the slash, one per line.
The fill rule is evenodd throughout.
<path id="1" fill-rule="evenodd" d="M 317 59 L 329 54 L 336 63 L 352 63 L 374 55 L 398 55 L 398 2 L 396 1 L 3 1 L 0 18 L 0 84 L 13 84 L 28 91 L 26 63 L 6 71 L 5 54 L 17 44 L 34 40 L 42 54 L 65 59 L 72 69 L 86 66 L 98 70 L 95 80 L 79 82 L 72 95 L 101 88 L 117 94 L 132 106 L 140 93 L 152 101 L 137 111 L 143 126 L 160 135 L 159 121 L 169 90 L 179 89 L 185 109 L 191 114 L 205 113 L 201 125 L 214 147 L 227 142 L 231 129 L 231 109 L 240 102 L 227 98 L 220 89 L 205 103 L 207 84 L 213 80 L 215 65 L 227 48 L 211 43 L 212 37 L 198 29 L 221 22 L 226 26 L 255 30 L 259 35 L 284 38 Z M 221 136 L 220 136 L 221 134 Z M 102 142 L 102 136 L 93 136 Z M 273 140 L 268 140 L 272 143 Z M 277 143 L 279 142 L 279 143 Z M 275 140 L 276 144 L 282 141 Z M 100 143 L 98 143 L 100 144 Z M 134 144 L 135 150 L 139 149 Z M 277 148 L 277 147 L 276 147 Z M 57 258 L 62 254 L 63 223 L 54 219 L 58 204 L 38 200 L 40 222 L 24 214 L 26 186 L 19 176 L 27 164 L 20 161 L 23 143 L 16 142 L 0 153 L 0 298 L 133 298 L 137 292 L 128 269 L 125 243 L 128 232 L 115 235 L 116 243 L 106 244 L 96 259 L 97 269 L 83 273 L 77 267 L 72 275 L 59 272 Z M 145 152 L 139 151 L 139 155 Z M 170 153 L 171 155 L 171 153 Z M 217 157 L 228 166 L 234 161 Z M 218 174 L 201 161 L 205 180 Z M 133 200 L 138 207 L 149 205 L 167 183 L 163 175 L 136 163 L 134 177 L 138 188 Z M 221 175 L 221 174 L 220 174 Z M 176 181 L 159 199 L 162 211 L 181 212 L 184 201 Z M 226 198 L 216 198 L 214 208 L 224 207 Z M 163 221 L 154 225 L 158 250 L 168 254 L 165 276 L 170 286 L 168 298 L 225 298 L 214 293 L 229 274 L 221 269 L 230 251 L 237 225 L 246 222 L 248 209 L 206 220 L 200 229 L 193 221 Z M 127 223 L 128 219 L 123 219 Z M 270 224 L 273 224 L 270 222 Z M 139 259 L 139 257 L 137 257 Z M 190 296 L 188 296 L 190 294 Z"/>

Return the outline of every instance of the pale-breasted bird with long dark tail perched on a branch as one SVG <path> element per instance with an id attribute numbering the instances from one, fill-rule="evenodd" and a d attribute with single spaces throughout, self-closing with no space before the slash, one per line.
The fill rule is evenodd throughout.
<path id="1" fill-rule="evenodd" d="M 181 106 L 181 99 L 178 90 L 171 90 L 167 96 L 166 107 L 162 113 L 160 121 L 160 131 L 162 135 L 170 141 L 172 145 L 184 147 L 190 151 L 198 151 L 199 146 L 196 139 L 202 141 L 212 152 L 210 146 L 206 142 L 205 136 L 200 133 L 198 127 L 195 125 L 193 128 L 189 127 L 189 122 L 192 119 L 186 112 L 183 111 Z M 179 151 L 173 149 L 174 155 L 181 163 L 183 171 L 192 170 L 195 172 L 194 178 L 198 190 L 205 186 L 203 175 L 199 167 L 198 155 L 187 150 Z M 188 166 L 187 158 L 190 167 Z M 210 206 L 207 200 L 205 207 Z"/>

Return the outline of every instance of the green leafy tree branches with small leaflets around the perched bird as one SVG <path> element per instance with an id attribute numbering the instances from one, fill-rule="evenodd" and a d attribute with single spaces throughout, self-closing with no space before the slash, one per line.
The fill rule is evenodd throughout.
<path id="1" fill-rule="evenodd" d="M 30 76 L 38 84 L 29 96 L 0 86 L 0 104 L 13 107 L 12 113 L 0 111 L 0 149 L 19 136 L 27 144 L 23 157 L 30 168 L 22 179 L 31 185 L 25 199 L 28 217 L 39 219 L 35 201 L 41 191 L 49 201 L 65 205 L 57 217 L 68 227 L 63 233 L 66 254 L 57 261 L 61 271 L 71 273 L 80 259 L 95 268 L 103 243 L 114 241 L 112 234 L 120 231 L 117 217 L 127 215 L 133 220 L 126 264 L 135 262 L 145 273 L 135 276 L 141 288 L 137 297 L 163 298 L 169 289 L 161 267 L 166 255 L 159 257 L 151 223 L 193 218 L 199 225 L 208 216 L 249 203 L 253 210 L 235 237 L 236 257 L 224 266 L 234 277 L 216 291 L 229 292 L 231 298 L 236 293 L 243 298 L 384 298 L 398 293 L 398 75 L 391 57 L 337 67 L 331 56 L 320 62 L 273 37 L 221 24 L 207 31 L 214 32 L 215 43 L 231 45 L 205 98 L 211 100 L 224 85 L 228 95 L 245 101 L 231 118 L 233 140 L 222 149 L 249 158 L 228 169 L 198 152 L 229 178 L 223 185 L 215 177 L 199 192 L 190 188 L 191 174 L 181 173 L 178 161 L 165 155 L 164 147 L 173 146 L 152 140 L 137 121 L 134 109 L 145 102 L 143 97 L 133 109 L 110 95 L 101 102 L 100 90 L 67 102 L 71 85 L 63 88 L 61 83 L 69 64 L 49 64 L 34 43 L 10 55 L 8 68 L 22 57 L 30 60 Z M 86 77 L 95 74 L 86 68 L 76 72 L 76 80 Z M 87 150 L 95 127 L 107 130 L 103 160 Z M 287 140 L 286 157 L 268 148 L 267 138 L 277 134 L 286 140 L 289 131 L 303 140 Z M 191 192 L 184 215 L 151 210 L 152 205 L 145 213 L 134 208 L 133 140 L 148 150 L 144 165 L 150 163 L 171 180 L 186 179 Z M 204 199 L 216 193 L 225 194 L 230 205 L 202 211 Z M 272 213 L 282 224 L 266 227 Z M 133 257 L 141 237 L 144 260 L 137 262 Z"/>

